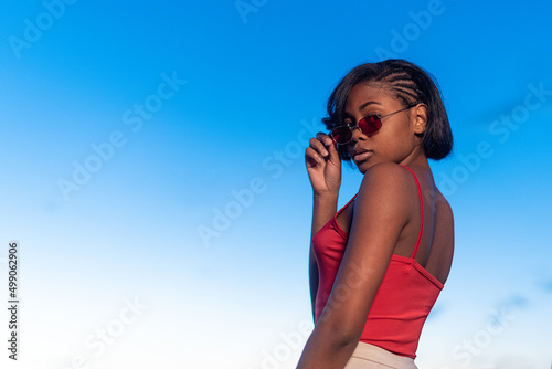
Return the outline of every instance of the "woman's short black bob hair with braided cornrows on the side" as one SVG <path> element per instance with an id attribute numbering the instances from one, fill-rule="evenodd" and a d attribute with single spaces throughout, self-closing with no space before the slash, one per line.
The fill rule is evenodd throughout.
<path id="1" fill-rule="evenodd" d="M 367 63 L 349 72 L 328 98 L 328 116 L 322 123 L 328 130 L 343 125 L 346 104 L 354 85 L 375 83 L 384 85 L 405 106 L 427 105 L 427 125 L 423 137 L 424 152 L 429 159 L 440 160 L 453 149 L 453 133 L 440 92 L 434 77 L 420 66 L 400 59 Z M 341 160 L 351 164 L 351 156 L 343 145 L 338 145 Z"/>

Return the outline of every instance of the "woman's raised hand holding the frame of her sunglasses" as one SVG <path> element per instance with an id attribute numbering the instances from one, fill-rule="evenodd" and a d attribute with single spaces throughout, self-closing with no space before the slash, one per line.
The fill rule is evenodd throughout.
<path id="1" fill-rule="evenodd" d="M 339 192 L 341 160 L 330 136 L 318 133 L 305 150 L 305 162 L 315 196 Z"/>

